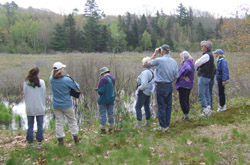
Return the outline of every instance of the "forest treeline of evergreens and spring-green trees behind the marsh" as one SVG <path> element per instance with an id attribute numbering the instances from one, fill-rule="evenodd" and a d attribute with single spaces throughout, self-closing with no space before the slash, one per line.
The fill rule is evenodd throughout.
<path id="1" fill-rule="evenodd" d="M 0 52 L 123 52 L 147 51 L 167 43 L 173 51 L 198 51 L 202 40 L 215 48 L 248 52 L 249 9 L 243 16 L 215 18 L 209 12 L 177 6 L 176 14 L 105 16 L 95 0 L 87 0 L 84 14 L 74 9 L 60 15 L 48 10 L 23 9 L 12 1 L 0 4 Z M 237 13 L 237 12 L 236 12 Z"/>

